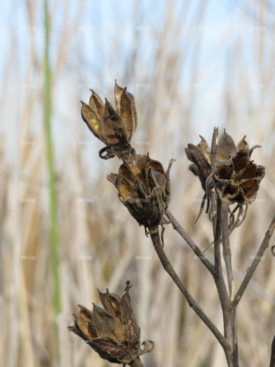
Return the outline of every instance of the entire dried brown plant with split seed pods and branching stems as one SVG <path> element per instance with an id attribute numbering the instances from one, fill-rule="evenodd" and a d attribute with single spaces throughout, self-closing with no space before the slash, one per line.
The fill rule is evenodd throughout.
<path id="1" fill-rule="evenodd" d="M 133 121 L 134 115 L 131 112 L 133 99 L 127 97 L 126 88 L 123 91 L 122 88 L 119 88 L 115 83 L 117 112 L 106 101 L 103 113 L 103 103 L 94 92 L 89 103 L 94 108 L 92 109 L 83 103 L 81 111 L 84 121 L 86 123 L 88 121 L 92 126 L 91 130 L 94 135 L 96 135 L 96 129 L 98 134 L 100 132 L 100 137 L 102 137 L 102 131 L 104 131 L 105 138 L 102 141 L 107 142 L 108 137 L 110 143 L 112 137 L 116 147 L 121 147 L 125 142 L 129 143 L 131 133 L 128 135 L 122 133 L 122 123 L 125 123 L 126 131 L 126 126 L 129 126 L 127 121 Z M 117 90 L 120 92 L 118 93 Z M 132 114 L 132 118 L 129 120 L 127 120 L 129 114 L 126 114 L 125 119 L 119 116 L 119 112 L 123 110 L 121 107 L 123 96 L 128 98 L 128 112 L 131 112 L 130 115 Z M 110 118 L 110 112 L 113 116 L 112 118 Z M 102 122 L 99 121 L 99 115 L 103 118 Z M 135 116 L 137 116 L 137 112 Z M 94 122 L 95 120 L 96 123 Z M 130 124 L 130 132 L 132 132 L 132 128 L 133 125 Z M 111 134 L 109 134 L 110 131 L 112 131 Z M 128 136 L 128 140 L 125 140 L 126 136 Z M 121 144 L 120 139 L 124 143 Z M 168 169 L 165 172 L 162 164 L 150 159 L 148 154 L 147 156 L 137 155 L 136 159 L 132 161 L 132 156 L 127 159 L 125 156 L 122 157 L 120 153 L 118 156 L 122 157 L 123 163 L 119 168 L 118 174 L 112 173 L 107 176 L 107 179 L 115 185 L 120 201 L 128 209 L 132 217 L 136 219 L 137 223 L 143 225 L 145 229 L 148 228 L 146 235 L 150 235 L 162 266 L 184 295 L 190 307 L 209 327 L 221 344 L 228 367 L 238 367 L 236 308 L 260 259 L 269 246 L 269 241 L 275 228 L 275 215 L 272 218 L 271 224 L 252 264 L 247 269 L 241 286 L 235 294 L 229 242 L 230 226 L 228 223 L 228 216 L 231 216 L 232 212 L 229 210 L 229 205 L 236 203 L 237 207 L 241 208 L 243 205 L 247 206 L 247 204 L 251 204 L 254 201 L 259 183 L 264 178 L 265 168 L 263 166 L 257 166 L 250 160 L 252 151 L 256 146 L 249 149 L 245 137 L 235 146 L 233 139 L 224 131 L 219 143 L 217 141 L 218 128 L 215 127 L 211 149 L 209 149 L 207 142 L 202 137 L 201 144 L 198 146 L 189 144 L 186 149 L 188 159 L 193 162 L 190 170 L 199 177 L 202 187 L 205 189 L 205 196 L 202 200 L 198 218 L 202 214 L 205 201 L 207 201 L 206 211 L 209 210 L 211 205 L 210 217 L 213 225 L 214 264 L 202 255 L 199 247 L 167 210 L 171 195 L 169 172 L 173 160 L 170 160 Z M 114 155 L 110 155 L 108 158 Z M 241 215 L 244 216 L 243 211 L 239 210 L 239 213 L 241 214 L 238 215 L 238 220 Z M 164 219 L 164 214 L 166 214 L 169 221 Z M 195 224 L 198 222 L 198 218 Z M 172 223 L 173 228 L 183 237 L 213 276 L 223 312 L 223 334 L 199 307 L 166 256 L 163 243 L 163 230 L 161 236 L 158 230 L 158 225 L 163 225 L 164 223 Z M 221 266 L 221 243 L 227 272 L 228 291 Z M 271 251 L 274 255 L 273 246 Z M 94 310 L 91 312 L 85 307 L 80 306 L 79 315 L 74 315 L 75 324 L 69 327 L 69 330 L 72 330 L 86 340 L 103 359 L 114 363 L 123 363 L 124 365 L 129 364 L 129 366 L 143 366 L 139 355 L 145 352 L 151 352 L 154 345 L 149 349 L 149 344 L 153 344 L 153 342 L 143 342 L 144 349 L 140 349 L 140 329 L 137 326 L 129 297 L 129 281 L 126 284 L 125 293 L 122 296 L 109 293 L 108 290 L 104 294 L 99 292 L 104 309 L 94 305 Z M 272 343 L 270 366 L 274 366 L 273 360 L 274 341 Z"/>

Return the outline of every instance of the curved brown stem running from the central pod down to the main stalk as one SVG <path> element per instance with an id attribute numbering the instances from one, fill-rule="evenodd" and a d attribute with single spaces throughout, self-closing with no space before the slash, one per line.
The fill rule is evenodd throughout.
<path id="1" fill-rule="evenodd" d="M 151 240 L 153 242 L 155 251 L 161 261 L 162 266 L 164 267 L 165 271 L 170 275 L 173 281 L 176 283 L 177 287 L 181 291 L 181 293 L 186 298 L 189 306 L 197 313 L 197 315 L 201 318 L 201 320 L 209 327 L 212 333 L 215 335 L 217 340 L 220 342 L 223 349 L 228 349 L 227 341 L 225 340 L 224 336 L 220 333 L 217 327 L 212 323 L 208 316 L 203 312 L 203 310 L 199 307 L 195 299 L 191 296 L 188 292 L 186 287 L 183 285 L 179 276 L 175 272 L 172 264 L 170 263 L 169 259 L 167 258 L 164 248 L 162 247 L 161 239 L 159 238 L 159 233 L 153 233 L 150 235 Z"/>

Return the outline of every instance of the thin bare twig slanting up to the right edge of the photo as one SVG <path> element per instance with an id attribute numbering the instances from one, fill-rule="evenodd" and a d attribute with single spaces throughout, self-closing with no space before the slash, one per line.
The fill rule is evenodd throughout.
<path id="1" fill-rule="evenodd" d="M 267 232 L 265 233 L 264 239 L 261 243 L 261 246 L 258 249 L 257 255 L 255 256 L 254 260 L 252 261 L 252 264 L 249 266 L 245 278 L 242 281 L 241 286 L 239 287 L 238 292 L 236 293 L 236 297 L 234 298 L 234 301 L 232 302 L 232 304 L 234 305 L 234 307 L 236 307 L 244 293 L 244 291 L 246 290 L 246 287 L 250 281 L 250 279 L 252 278 L 254 271 L 256 270 L 259 262 L 261 261 L 261 259 L 263 258 L 264 252 L 265 250 L 268 248 L 269 246 L 269 241 L 270 238 L 272 236 L 272 233 L 274 231 L 275 228 L 275 214 L 274 217 L 272 218 L 272 221 L 269 225 L 269 228 L 267 230 Z"/>

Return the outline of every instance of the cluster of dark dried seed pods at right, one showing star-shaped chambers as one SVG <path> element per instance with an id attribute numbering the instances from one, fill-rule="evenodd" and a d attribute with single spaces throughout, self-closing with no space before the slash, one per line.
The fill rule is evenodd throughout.
<path id="1" fill-rule="evenodd" d="M 255 200 L 260 182 L 265 175 L 265 168 L 257 166 L 250 160 L 253 150 L 257 147 L 258 145 L 255 145 L 249 149 L 245 137 L 235 146 L 231 136 L 224 130 L 217 144 L 215 171 L 211 173 L 210 152 L 205 139 L 201 137 L 198 146 L 188 144 L 185 151 L 188 159 L 193 162 L 189 169 L 199 177 L 206 191 L 208 208 L 209 192 L 213 187 L 220 198 L 230 204 L 237 203 L 238 206 L 242 206 Z M 203 203 L 198 218 L 202 213 Z M 231 227 L 234 228 L 240 222 L 241 219 L 238 218 L 238 223 L 232 223 Z"/>

